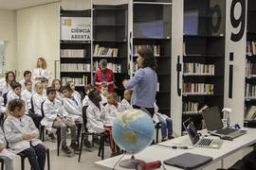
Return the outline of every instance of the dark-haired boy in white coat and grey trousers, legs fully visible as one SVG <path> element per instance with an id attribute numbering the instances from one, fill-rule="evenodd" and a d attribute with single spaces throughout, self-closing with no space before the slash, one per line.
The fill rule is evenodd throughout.
<path id="1" fill-rule="evenodd" d="M 51 131 L 52 127 L 61 127 L 61 141 L 62 141 L 62 150 L 66 156 L 71 156 L 72 152 L 66 145 L 66 128 L 70 127 L 71 129 L 71 144 L 70 147 L 74 149 L 75 152 L 79 151 L 77 144 L 76 130 L 77 127 L 75 123 L 66 116 L 66 112 L 62 106 L 62 103 L 56 98 L 56 90 L 52 87 L 48 87 L 46 90 L 47 99 L 43 104 L 43 110 L 45 113 L 44 119 L 41 121 L 41 124 Z M 49 135 L 53 135 L 51 132 Z"/>

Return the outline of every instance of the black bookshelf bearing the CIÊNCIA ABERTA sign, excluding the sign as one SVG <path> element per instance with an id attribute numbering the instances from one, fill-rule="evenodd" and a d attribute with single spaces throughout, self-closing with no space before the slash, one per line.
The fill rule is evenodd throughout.
<path id="1" fill-rule="evenodd" d="M 90 18 L 91 10 L 61 9 L 60 16 Z M 76 91 L 84 94 L 84 85 L 91 82 L 91 41 L 61 40 L 60 47 L 60 76 L 63 85 L 72 80 Z"/>

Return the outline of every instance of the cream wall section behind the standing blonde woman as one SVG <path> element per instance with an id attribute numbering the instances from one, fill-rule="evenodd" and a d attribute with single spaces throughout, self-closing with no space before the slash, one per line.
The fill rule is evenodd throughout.
<path id="1" fill-rule="evenodd" d="M 40 57 L 46 59 L 54 78 L 54 60 L 60 59 L 59 16 L 58 3 L 17 10 L 17 61 L 20 78 L 25 70 L 32 71 L 35 68 Z"/>

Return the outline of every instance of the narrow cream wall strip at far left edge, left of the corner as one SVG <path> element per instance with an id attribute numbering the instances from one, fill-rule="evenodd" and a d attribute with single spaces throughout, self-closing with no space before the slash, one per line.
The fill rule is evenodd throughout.
<path id="1" fill-rule="evenodd" d="M 16 50 L 16 12 L 14 10 L 0 9 L 0 40 L 9 41 L 6 49 L 6 70 L 15 71 L 17 62 Z"/>

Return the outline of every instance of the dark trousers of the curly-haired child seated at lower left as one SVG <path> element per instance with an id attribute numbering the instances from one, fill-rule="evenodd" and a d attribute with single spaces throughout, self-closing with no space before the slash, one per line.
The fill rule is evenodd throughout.
<path id="1" fill-rule="evenodd" d="M 46 163 L 46 147 L 43 144 L 37 144 L 30 146 L 26 150 L 22 151 L 27 155 L 27 159 L 33 170 L 44 170 Z"/>

